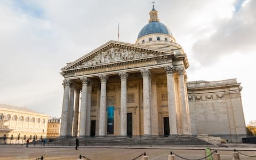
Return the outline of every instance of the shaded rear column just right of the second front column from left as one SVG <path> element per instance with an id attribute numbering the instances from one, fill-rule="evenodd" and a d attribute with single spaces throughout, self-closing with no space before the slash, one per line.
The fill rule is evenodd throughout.
<path id="1" fill-rule="evenodd" d="M 86 125 L 85 135 L 90 137 L 91 135 L 91 98 L 92 98 L 92 82 L 90 81 L 87 86 L 87 108 L 86 108 Z"/>

